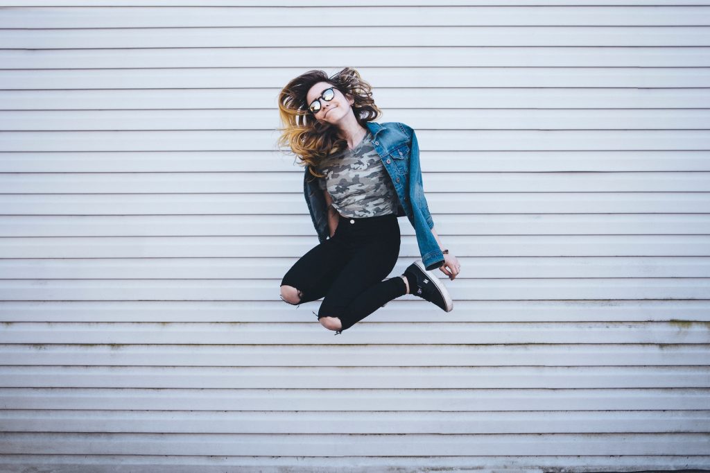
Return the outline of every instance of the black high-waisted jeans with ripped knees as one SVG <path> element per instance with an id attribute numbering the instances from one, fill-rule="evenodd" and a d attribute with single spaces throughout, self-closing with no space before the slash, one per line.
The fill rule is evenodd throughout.
<path id="1" fill-rule="evenodd" d="M 317 317 L 338 317 L 338 335 L 405 294 L 407 286 L 399 276 L 383 281 L 397 263 L 399 250 L 394 214 L 359 219 L 341 215 L 333 237 L 301 256 L 281 285 L 300 291 L 299 304 L 324 298 Z"/>

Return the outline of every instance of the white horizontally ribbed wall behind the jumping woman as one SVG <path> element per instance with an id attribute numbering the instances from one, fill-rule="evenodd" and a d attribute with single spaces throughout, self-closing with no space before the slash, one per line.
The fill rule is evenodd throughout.
<path id="1" fill-rule="evenodd" d="M 710 1 L 577 3 L 1 0 L 2 471 L 710 468 Z M 345 65 L 463 272 L 334 337 L 273 130 Z"/>

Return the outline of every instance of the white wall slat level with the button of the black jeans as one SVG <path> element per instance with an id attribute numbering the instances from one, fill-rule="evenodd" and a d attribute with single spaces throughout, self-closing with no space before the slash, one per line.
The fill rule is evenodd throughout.
<path id="1" fill-rule="evenodd" d="M 560 226 L 569 227 L 570 235 L 605 235 L 613 234 L 685 234 L 705 235 L 710 233 L 710 222 L 704 214 L 487 214 L 466 215 L 441 214 L 437 222 L 445 224 L 452 234 L 537 234 L 555 235 Z M 484 226 L 485 224 L 485 226 Z M 186 226 L 192 227 L 193 237 L 212 237 L 215 235 L 233 236 L 312 236 L 312 222 L 302 215 L 269 214 L 234 214 L 234 215 L 95 215 L 90 222 L 77 215 L 4 215 L 0 216 L 0 226 L 4 227 L 5 237 L 22 237 L 33 234 L 35 237 L 163 237 L 177 235 Z M 415 235 L 410 226 L 402 226 L 401 234 Z M 672 259 L 674 256 L 668 256 Z M 577 260 L 570 260 L 577 261 Z M 616 260 L 618 261 L 621 260 Z M 704 265 L 704 259 L 689 262 Z M 614 261 L 610 261 L 614 263 Z M 672 263 L 671 260 L 667 261 Z M 58 261 L 57 264 L 72 264 L 71 261 Z M 116 264 L 121 264 L 116 261 Z M 158 263 L 157 261 L 154 263 Z M 161 261 L 161 264 L 173 264 L 173 261 Z M 214 263 L 221 263 L 214 261 Z M 212 263 L 212 264 L 214 264 Z M 230 261 L 248 265 L 246 261 Z M 485 264 L 485 262 L 481 262 Z M 519 264 L 519 261 L 497 261 L 506 266 Z M 601 261 L 591 261 L 589 265 L 601 265 Z M 0 265 L 26 265 L 26 261 L 0 261 Z M 31 263 L 30 263 L 31 264 Z M 263 261 L 266 266 L 271 261 Z M 567 265 L 567 261 L 559 261 Z M 190 271 L 195 269 L 191 265 Z M 545 265 L 540 265 L 545 266 Z M 47 268 L 49 269 L 49 268 Z M 80 269 L 80 268 L 77 268 Z M 146 268 L 149 269 L 149 268 Z M 257 270 L 258 268 L 253 268 Z M 537 268 L 530 268 L 537 269 Z M 621 268 L 620 268 L 621 269 Z M 662 270 L 663 268 L 659 268 Z"/>

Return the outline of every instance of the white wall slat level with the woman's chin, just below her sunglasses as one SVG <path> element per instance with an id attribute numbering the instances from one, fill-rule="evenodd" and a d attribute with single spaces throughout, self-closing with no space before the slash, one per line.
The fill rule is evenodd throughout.
<path id="1" fill-rule="evenodd" d="M 710 36 L 710 28 L 709 28 Z M 415 129 L 426 129 L 432 121 L 447 129 L 704 129 L 710 124 L 710 111 L 694 110 L 501 110 L 389 109 Z M 130 120 L 130 121 L 129 121 Z M 113 112 L 14 111 L 0 112 L 5 131 L 32 130 L 132 130 L 179 129 L 185 121 L 201 129 L 268 129 L 274 124 L 273 110 L 214 110 L 170 112 L 122 110 Z"/>

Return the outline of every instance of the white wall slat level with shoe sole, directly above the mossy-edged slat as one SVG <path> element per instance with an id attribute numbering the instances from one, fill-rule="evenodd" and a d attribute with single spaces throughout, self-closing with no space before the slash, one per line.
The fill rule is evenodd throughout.
<path id="1" fill-rule="evenodd" d="M 0 303 L 2 322 L 304 322 L 300 311 L 281 300 L 38 300 Z M 450 322 L 674 322 L 677 327 L 710 322 L 706 300 L 459 300 Z M 413 298 L 399 298 L 377 313 L 377 320 L 442 322 L 437 312 Z M 209 317 L 206 316 L 209 314 Z M 475 318 L 471 317 L 475 315 Z M 682 317 L 682 318 L 678 318 Z M 267 320 L 268 322 L 264 322 Z M 366 327 L 374 318 L 362 322 Z M 7 325 L 9 327 L 9 325 Z M 398 325 L 400 329 L 402 325 Z M 326 334 L 327 335 L 327 334 Z M 427 340 L 423 339 L 426 343 Z"/>

